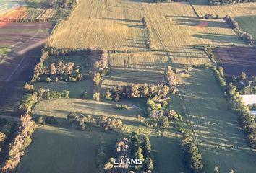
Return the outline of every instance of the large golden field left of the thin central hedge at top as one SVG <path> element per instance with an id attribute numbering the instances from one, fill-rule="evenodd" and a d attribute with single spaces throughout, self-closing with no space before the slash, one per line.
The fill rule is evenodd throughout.
<path id="1" fill-rule="evenodd" d="M 145 49 L 140 4 L 125 1 L 78 1 L 68 21 L 51 37 L 51 45 L 67 48 Z"/>

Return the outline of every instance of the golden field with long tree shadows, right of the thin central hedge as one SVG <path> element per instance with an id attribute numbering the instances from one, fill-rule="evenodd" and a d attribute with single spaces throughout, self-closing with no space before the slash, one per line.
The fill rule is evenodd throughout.
<path id="1" fill-rule="evenodd" d="M 168 51 L 173 63 L 208 62 L 204 45 L 245 45 L 222 19 L 198 19 L 187 3 L 142 4 L 142 9 L 149 20 L 153 47 Z"/>

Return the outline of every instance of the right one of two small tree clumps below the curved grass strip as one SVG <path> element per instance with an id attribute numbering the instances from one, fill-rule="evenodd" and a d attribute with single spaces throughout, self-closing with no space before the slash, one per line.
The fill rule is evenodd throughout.
<path id="1" fill-rule="evenodd" d="M 120 129 L 123 126 L 123 122 L 120 119 L 103 116 L 96 119 L 96 125 L 106 131 L 109 131 Z"/>

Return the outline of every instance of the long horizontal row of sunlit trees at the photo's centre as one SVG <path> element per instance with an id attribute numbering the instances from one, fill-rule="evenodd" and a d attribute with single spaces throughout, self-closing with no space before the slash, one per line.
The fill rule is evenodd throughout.
<path id="1" fill-rule="evenodd" d="M 104 94 L 106 99 L 114 99 L 119 101 L 121 98 L 152 98 L 153 100 L 163 99 L 167 97 L 170 91 L 168 86 L 164 84 L 132 84 L 127 86 L 114 86 L 114 89 L 109 90 Z"/>

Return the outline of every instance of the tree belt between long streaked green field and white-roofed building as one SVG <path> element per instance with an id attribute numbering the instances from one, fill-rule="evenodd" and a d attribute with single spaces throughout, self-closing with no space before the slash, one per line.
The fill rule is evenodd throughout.
<path id="1" fill-rule="evenodd" d="M 251 147 L 256 149 L 255 116 L 250 114 L 249 107 L 245 105 L 242 98 L 239 96 L 236 86 L 229 83 L 228 91 L 231 110 L 239 115 L 239 122 L 242 125 L 243 130 L 247 132 L 247 139 Z"/>

